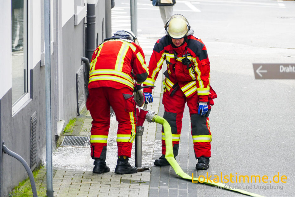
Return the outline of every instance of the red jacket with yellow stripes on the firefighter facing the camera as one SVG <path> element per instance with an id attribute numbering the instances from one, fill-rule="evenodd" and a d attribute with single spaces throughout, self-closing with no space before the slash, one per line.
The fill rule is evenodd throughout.
<path id="1" fill-rule="evenodd" d="M 173 47 L 169 36 L 164 36 L 156 42 L 149 62 L 149 75 L 143 84 L 154 85 L 165 60 L 167 70 L 164 72 L 164 88 L 169 91 L 170 95 L 180 88 L 186 97 L 197 93 L 200 101 L 208 102 L 210 62 L 206 46 L 201 39 L 192 35 L 187 36 L 184 42 L 176 48 Z M 190 60 L 189 66 L 182 63 L 185 57 Z M 150 89 L 144 89 L 144 92 L 150 91 Z"/>

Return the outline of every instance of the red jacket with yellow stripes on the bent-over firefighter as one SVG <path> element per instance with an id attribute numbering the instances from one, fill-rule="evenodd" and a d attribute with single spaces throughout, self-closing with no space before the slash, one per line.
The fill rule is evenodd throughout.
<path id="1" fill-rule="evenodd" d="M 142 84 L 148 75 L 142 48 L 125 39 L 107 40 L 92 55 L 88 88 L 128 87 Z"/>

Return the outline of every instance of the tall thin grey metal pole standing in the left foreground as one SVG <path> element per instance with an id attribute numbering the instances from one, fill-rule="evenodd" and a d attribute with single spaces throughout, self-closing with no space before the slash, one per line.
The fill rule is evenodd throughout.
<path id="1" fill-rule="evenodd" d="M 51 133 L 50 0 L 44 1 L 45 106 L 46 106 L 46 195 L 53 197 Z"/>

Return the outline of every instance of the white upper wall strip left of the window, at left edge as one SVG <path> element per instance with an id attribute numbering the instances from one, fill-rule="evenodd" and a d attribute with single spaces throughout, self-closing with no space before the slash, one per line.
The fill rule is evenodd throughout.
<path id="1" fill-rule="evenodd" d="M 0 99 L 12 87 L 11 76 L 11 1 L 1 1 Z"/>

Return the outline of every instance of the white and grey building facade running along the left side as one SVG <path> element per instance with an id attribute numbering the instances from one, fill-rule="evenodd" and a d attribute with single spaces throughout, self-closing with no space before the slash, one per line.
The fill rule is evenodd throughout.
<path id="1" fill-rule="evenodd" d="M 57 119 L 56 102 L 59 93 L 57 88 L 62 87 L 62 112 L 66 124 L 70 119 L 77 117 L 76 100 L 76 72 L 81 66 L 81 57 L 85 57 L 85 20 L 82 19 L 74 25 L 74 0 L 51 0 L 51 3 L 61 5 L 60 23 L 62 24 L 62 52 L 51 52 L 51 104 L 52 106 L 52 143 L 55 147 L 55 130 Z M 96 32 L 99 34 L 98 43 L 105 38 L 105 0 L 88 0 L 96 3 Z M 3 19 L 0 28 L 0 142 L 5 141 L 8 149 L 16 152 L 30 163 L 30 117 L 37 113 L 37 166 L 42 165 L 46 159 L 46 104 L 45 104 L 45 67 L 42 65 L 42 52 L 44 47 L 43 25 L 44 0 L 28 0 L 28 70 L 29 97 L 24 100 L 16 112 L 12 110 L 12 52 L 11 52 L 11 1 L 1 1 L 0 17 Z M 87 5 L 86 5 L 87 6 Z M 51 6 L 52 8 L 52 6 Z M 52 12 L 51 12 L 52 13 Z M 52 19 L 52 18 L 51 18 Z M 56 24 L 58 25 L 58 24 Z M 51 26 L 51 33 L 57 34 L 56 28 Z M 51 35 L 53 42 L 53 36 Z M 51 42 L 51 47 L 56 46 Z M 52 50 L 52 49 L 51 49 Z M 61 67 L 56 59 L 62 59 Z M 58 76 L 62 73 L 61 76 Z M 58 78 L 62 78 L 62 80 Z M 56 84 L 61 81 L 61 84 Z M 2 145 L 2 144 L 1 144 Z M 2 152 L 0 146 L 0 196 L 8 193 L 27 178 L 27 172 L 22 164 L 15 158 Z"/>

